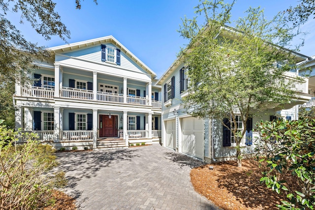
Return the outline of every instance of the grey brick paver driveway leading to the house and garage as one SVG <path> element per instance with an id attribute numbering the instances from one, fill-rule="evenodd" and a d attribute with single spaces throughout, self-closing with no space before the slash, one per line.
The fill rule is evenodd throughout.
<path id="1" fill-rule="evenodd" d="M 160 145 L 57 155 L 78 209 L 218 209 L 190 183 L 190 169 L 202 162 Z"/>

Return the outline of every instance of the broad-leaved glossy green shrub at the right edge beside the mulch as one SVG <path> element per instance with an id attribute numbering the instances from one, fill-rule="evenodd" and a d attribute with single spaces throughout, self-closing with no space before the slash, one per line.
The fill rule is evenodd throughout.
<path id="1" fill-rule="evenodd" d="M 274 120 L 257 123 L 260 133 L 257 159 L 268 188 L 286 200 L 283 210 L 314 209 L 315 206 L 315 119 Z"/>

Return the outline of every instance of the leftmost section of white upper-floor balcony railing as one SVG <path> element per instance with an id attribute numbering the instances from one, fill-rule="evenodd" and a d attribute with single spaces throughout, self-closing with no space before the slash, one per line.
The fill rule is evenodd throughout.
<path id="1" fill-rule="evenodd" d="M 36 97 L 36 98 L 53 98 L 55 96 L 55 90 L 50 88 L 41 87 L 22 87 L 22 96 Z"/>

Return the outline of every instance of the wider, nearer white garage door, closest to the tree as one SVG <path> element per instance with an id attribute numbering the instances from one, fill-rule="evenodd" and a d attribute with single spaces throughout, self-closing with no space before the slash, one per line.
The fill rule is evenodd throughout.
<path id="1" fill-rule="evenodd" d="M 203 159 L 204 155 L 204 125 L 198 118 L 183 118 L 182 120 L 182 151 L 194 157 Z"/>

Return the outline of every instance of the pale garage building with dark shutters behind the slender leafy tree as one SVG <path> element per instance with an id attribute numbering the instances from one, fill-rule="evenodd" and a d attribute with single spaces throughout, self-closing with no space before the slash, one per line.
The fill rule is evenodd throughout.
<path id="1" fill-rule="evenodd" d="M 299 53 L 292 53 L 300 61 L 310 59 Z M 184 63 L 175 60 L 158 80 L 158 85 L 162 86 L 162 145 L 209 163 L 235 158 L 236 143 L 230 130 L 219 120 L 203 120 L 189 116 L 181 104 L 182 98 L 189 94 L 187 71 Z M 287 72 L 285 76 L 287 79 L 294 79 L 297 73 Z M 296 84 L 298 97 L 282 108 L 290 109 L 311 98 L 308 94 L 308 79 L 305 78 L 305 81 L 303 84 Z M 252 139 L 257 136 L 252 133 L 255 123 L 277 118 L 280 110 L 281 108 L 276 106 L 270 107 L 264 113 L 256 113 L 253 119 L 248 120 L 247 132 L 241 143 L 243 153 L 253 151 Z M 240 117 L 236 120 L 241 130 L 243 122 Z"/>

